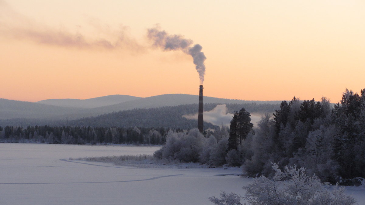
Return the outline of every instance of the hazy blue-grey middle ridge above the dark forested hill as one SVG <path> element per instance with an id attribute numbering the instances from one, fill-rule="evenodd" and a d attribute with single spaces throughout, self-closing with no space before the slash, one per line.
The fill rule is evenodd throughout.
<path id="1" fill-rule="evenodd" d="M 0 99 L 0 124 L 24 125 L 32 118 L 41 124 L 51 121 L 76 120 L 82 117 L 98 116 L 112 112 L 128 111 L 133 109 L 161 108 L 186 104 L 197 104 L 199 96 L 191 94 L 163 94 L 151 97 L 135 97 L 124 95 L 112 95 L 86 100 L 78 99 L 49 99 L 39 102 L 24 102 Z M 112 104 L 112 103 L 115 104 Z M 232 100 L 204 96 L 204 104 L 272 104 L 277 105 L 281 101 L 246 101 Z M 50 105 L 51 104 L 51 105 Z M 111 105 L 112 104 L 112 105 Z M 56 106 L 58 105 L 58 106 Z M 97 105 L 104 105 L 95 107 Z M 85 107 L 95 107 L 88 108 Z M 12 119 L 12 120 L 9 120 Z M 27 120 L 28 119 L 28 120 Z M 50 123 L 51 124 L 51 123 Z"/>

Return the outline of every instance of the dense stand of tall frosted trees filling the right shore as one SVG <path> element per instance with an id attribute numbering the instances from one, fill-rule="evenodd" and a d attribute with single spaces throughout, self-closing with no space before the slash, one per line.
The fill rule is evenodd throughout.
<path id="1" fill-rule="evenodd" d="M 329 100 L 280 104 L 274 117 L 265 115 L 242 147 L 250 174 L 272 176 L 271 163 L 306 167 L 322 181 L 344 185 L 365 178 L 365 89 L 346 90 L 334 108 Z"/>

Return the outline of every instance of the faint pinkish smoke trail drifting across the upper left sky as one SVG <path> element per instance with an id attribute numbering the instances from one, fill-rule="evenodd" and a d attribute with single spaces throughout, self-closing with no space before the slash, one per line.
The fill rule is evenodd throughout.
<path id="1" fill-rule="evenodd" d="M 105 37 L 93 38 L 80 32 L 70 32 L 64 27 L 54 28 L 27 18 L 0 0 L 0 36 L 19 40 L 29 40 L 35 43 L 76 47 L 79 49 L 128 50 L 138 52 L 144 49 L 128 34 L 128 27 L 110 31 L 91 24 L 97 33 Z M 81 28 L 81 26 L 78 26 Z"/>

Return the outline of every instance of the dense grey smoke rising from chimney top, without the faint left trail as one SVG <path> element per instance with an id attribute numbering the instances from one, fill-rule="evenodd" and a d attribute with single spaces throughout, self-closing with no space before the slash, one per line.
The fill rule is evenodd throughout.
<path id="1" fill-rule="evenodd" d="M 196 65 L 195 69 L 199 73 L 200 84 L 203 84 L 205 65 L 204 61 L 207 59 L 204 53 L 201 52 L 199 44 L 193 44 L 191 39 L 185 39 L 182 35 L 170 35 L 165 30 L 161 31 L 160 27 L 148 29 L 147 36 L 150 40 L 153 40 L 153 46 L 159 47 L 164 51 L 180 50 L 193 57 L 193 62 Z"/>

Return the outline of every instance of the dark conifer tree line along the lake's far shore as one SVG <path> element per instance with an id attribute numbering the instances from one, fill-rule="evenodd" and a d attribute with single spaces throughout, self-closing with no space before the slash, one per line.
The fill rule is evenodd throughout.
<path id="1" fill-rule="evenodd" d="M 0 142 L 49 144 L 164 144 L 170 128 L 0 126 Z M 174 129 L 181 132 L 181 129 Z"/>

